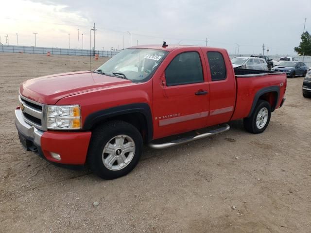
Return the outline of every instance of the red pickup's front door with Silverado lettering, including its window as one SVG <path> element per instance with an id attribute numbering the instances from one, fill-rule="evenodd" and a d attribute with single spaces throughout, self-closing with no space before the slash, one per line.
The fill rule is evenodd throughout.
<path id="1" fill-rule="evenodd" d="M 162 75 L 153 79 L 154 139 L 207 125 L 209 86 L 199 48 L 172 51 Z"/>

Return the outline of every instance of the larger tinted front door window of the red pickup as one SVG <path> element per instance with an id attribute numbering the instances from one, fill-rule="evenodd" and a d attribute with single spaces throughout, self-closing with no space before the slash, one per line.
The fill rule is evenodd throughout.
<path id="1" fill-rule="evenodd" d="M 202 83 L 203 73 L 200 56 L 197 52 L 178 54 L 165 70 L 168 86 Z"/>

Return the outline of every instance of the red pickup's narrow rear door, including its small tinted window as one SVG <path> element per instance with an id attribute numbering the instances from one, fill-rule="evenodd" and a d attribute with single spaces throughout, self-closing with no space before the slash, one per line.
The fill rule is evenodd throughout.
<path id="1" fill-rule="evenodd" d="M 209 116 L 207 125 L 230 120 L 236 101 L 234 71 L 226 50 L 202 48 L 209 82 Z"/>

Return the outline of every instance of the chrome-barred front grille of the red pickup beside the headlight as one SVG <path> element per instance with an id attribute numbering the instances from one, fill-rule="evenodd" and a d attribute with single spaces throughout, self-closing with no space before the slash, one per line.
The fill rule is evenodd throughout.
<path id="1" fill-rule="evenodd" d="M 45 109 L 46 105 L 29 100 L 19 95 L 19 102 L 24 116 L 24 120 L 30 125 L 40 130 L 46 130 Z"/>

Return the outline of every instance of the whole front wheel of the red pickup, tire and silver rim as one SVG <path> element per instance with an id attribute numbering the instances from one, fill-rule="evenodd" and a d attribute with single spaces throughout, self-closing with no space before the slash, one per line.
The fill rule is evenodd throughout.
<path id="1" fill-rule="evenodd" d="M 137 128 L 124 121 L 110 121 L 92 132 L 87 162 L 99 177 L 116 179 L 134 169 L 142 148 Z"/>

